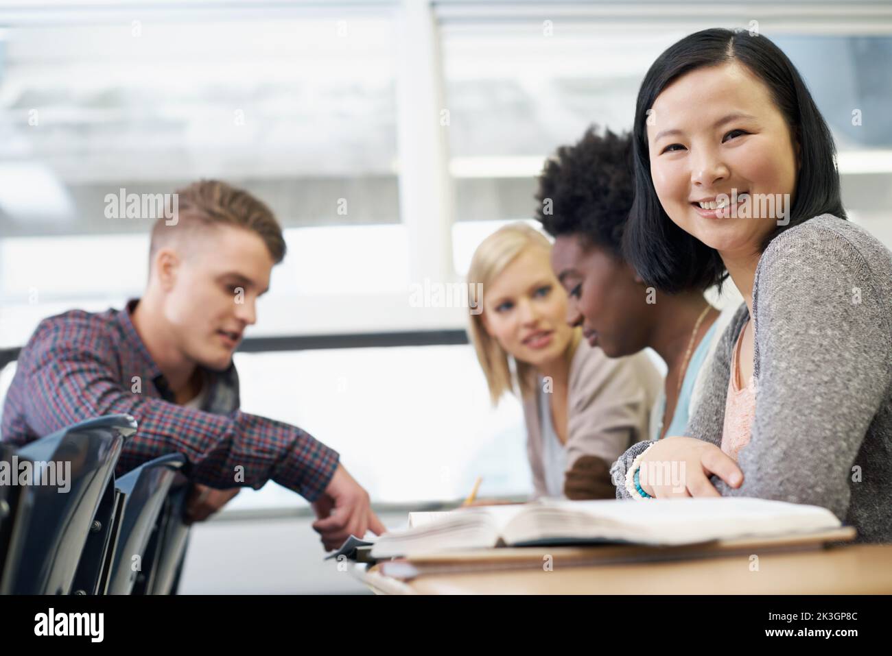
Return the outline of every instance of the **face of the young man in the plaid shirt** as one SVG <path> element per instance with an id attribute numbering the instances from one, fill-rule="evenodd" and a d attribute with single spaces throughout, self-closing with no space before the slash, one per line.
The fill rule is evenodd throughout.
<path id="1" fill-rule="evenodd" d="M 227 369 L 244 329 L 257 321 L 255 305 L 274 264 L 258 234 L 229 225 L 202 229 L 200 238 L 158 252 L 165 323 L 186 359 Z"/>

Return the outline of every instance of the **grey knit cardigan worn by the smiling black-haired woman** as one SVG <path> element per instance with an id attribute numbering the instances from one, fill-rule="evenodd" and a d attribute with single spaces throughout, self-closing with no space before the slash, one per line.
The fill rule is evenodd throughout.
<path id="1" fill-rule="evenodd" d="M 719 446 L 742 305 L 716 349 L 686 434 Z M 756 417 L 734 489 L 830 509 L 863 542 L 892 542 L 892 253 L 832 215 L 781 233 L 756 268 Z M 639 442 L 611 468 L 617 498 Z"/>

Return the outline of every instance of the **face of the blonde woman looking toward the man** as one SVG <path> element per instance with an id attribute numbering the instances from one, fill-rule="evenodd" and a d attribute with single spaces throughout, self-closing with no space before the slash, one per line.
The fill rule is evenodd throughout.
<path id="1" fill-rule="evenodd" d="M 483 290 L 483 327 L 511 356 L 541 367 L 563 357 L 573 329 L 549 252 L 530 246 Z"/>

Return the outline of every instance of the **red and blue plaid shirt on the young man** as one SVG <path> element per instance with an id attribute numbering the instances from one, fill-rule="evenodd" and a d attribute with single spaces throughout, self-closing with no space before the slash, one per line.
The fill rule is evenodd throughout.
<path id="1" fill-rule="evenodd" d="M 21 446 L 103 414 L 131 414 L 120 475 L 169 453 L 186 455 L 186 474 L 213 488 L 260 488 L 275 480 L 310 501 L 327 487 L 338 454 L 309 433 L 238 409 L 235 365 L 205 369 L 202 409 L 173 402 L 161 370 L 126 310 L 72 310 L 42 321 L 21 349 L 3 412 L 3 439 Z"/>

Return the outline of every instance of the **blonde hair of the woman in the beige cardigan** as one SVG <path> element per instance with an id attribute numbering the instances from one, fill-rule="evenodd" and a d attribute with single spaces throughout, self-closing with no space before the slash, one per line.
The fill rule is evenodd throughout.
<path id="1" fill-rule="evenodd" d="M 468 332 L 477 353 L 477 360 L 486 376 L 493 406 L 505 392 L 516 394 L 519 388 L 522 398 L 532 394 L 536 386 L 535 368 L 510 357 L 499 341 L 486 332 L 486 327 L 483 325 L 482 295 L 472 299 L 471 290 L 477 289 L 478 284 L 482 284 L 485 290 L 517 256 L 533 247 L 550 251 L 551 242 L 544 234 L 525 223 L 505 225 L 477 246 L 467 272 L 468 307 L 479 308 L 476 314 L 470 312 L 471 322 Z M 514 371 L 511 369 L 512 363 Z"/>

